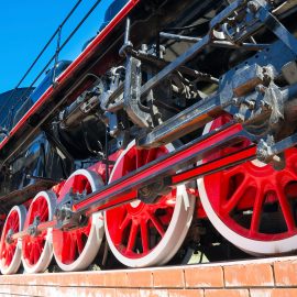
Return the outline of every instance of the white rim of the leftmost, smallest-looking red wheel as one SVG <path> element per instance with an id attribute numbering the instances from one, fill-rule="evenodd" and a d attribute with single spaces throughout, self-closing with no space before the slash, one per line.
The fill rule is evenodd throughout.
<path id="1" fill-rule="evenodd" d="M 23 230 L 23 226 L 24 226 L 24 221 L 25 221 L 25 216 L 26 216 L 26 209 L 24 206 L 14 206 L 9 215 L 8 218 L 10 217 L 10 215 L 16 211 L 19 215 L 19 230 L 22 231 Z M 2 241 L 2 239 L 1 239 Z M 2 257 L 2 256 L 1 256 Z M 21 238 L 18 239 L 18 243 L 16 243 L 16 249 L 14 252 L 14 255 L 12 257 L 12 261 L 10 263 L 9 266 L 4 266 L 2 258 L 0 261 L 0 271 L 2 274 L 14 274 L 18 272 L 20 265 L 21 265 L 21 257 L 22 257 L 22 240 Z"/>

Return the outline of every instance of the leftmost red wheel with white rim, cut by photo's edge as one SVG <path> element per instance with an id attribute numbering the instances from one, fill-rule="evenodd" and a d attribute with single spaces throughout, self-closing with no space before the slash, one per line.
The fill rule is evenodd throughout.
<path id="1" fill-rule="evenodd" d="M 23 230 L 26 209 L 14 206 L 6 220 L 0 242 L 0 271 L 2 274 L 14 274 L 21 265 L 22 241 L 12 240 L 10 235 Z"/>

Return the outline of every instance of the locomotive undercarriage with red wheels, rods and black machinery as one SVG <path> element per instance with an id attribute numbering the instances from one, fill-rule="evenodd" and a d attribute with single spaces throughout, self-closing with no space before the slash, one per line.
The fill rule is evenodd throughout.
<path id="1" fill-rule="evenodd" d="M 87 73 L 33 144 L 9 146 L 3 215 L 24 205 L 6 216 L 3 274 L 21 261 L 43 272 L 53 254 L 63 271 L 111 254 L 131 267 L 187 250 L 218 260 L 224 239 L 253 255 L 296 251 L 297 3 L 200 2 L 141 3 L 154 7 L 146 41 L 134 40 L 152 20 L 132 13 L 121 58 Z"/>

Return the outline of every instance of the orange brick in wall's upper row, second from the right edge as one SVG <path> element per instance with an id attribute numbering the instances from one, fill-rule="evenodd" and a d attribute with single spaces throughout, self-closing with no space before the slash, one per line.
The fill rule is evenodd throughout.
<path id="1" fill-rule="evenodd" d="M 227 287 L 274 286 L 273 270 L 270 264 L 256 263 L 224 267 Z"/>

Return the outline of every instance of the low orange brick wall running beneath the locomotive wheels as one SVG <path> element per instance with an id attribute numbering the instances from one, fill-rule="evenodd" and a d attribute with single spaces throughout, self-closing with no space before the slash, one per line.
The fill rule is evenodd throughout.
<path id="1" fill-rule="evenodd" d="M 0 276 L 1 296 L 297 296 L 297 257 L 112 272 Z"/>

